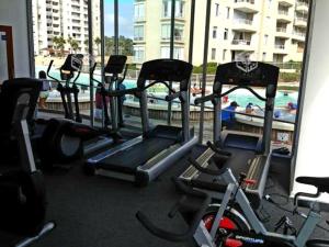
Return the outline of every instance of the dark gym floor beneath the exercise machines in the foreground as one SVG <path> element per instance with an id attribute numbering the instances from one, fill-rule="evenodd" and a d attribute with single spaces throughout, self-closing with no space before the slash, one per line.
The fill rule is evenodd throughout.
<path id="1" fill-rule="evenodd" d="M 272 160 L 266 193 L 277 203 L 285 202 L 279 194 L 286 194 L 290 165 L 288 160 Z M 186 161 L 168 170 L 147 188 L 136 188 L 129 182 L 102 177 L 87 177 L 77 162 L 70 170 L 56 170 L 45 173 L 48 193 L 48 220 L 57 227 L 49 235 L 35 243 L 34 247 L 173 247 L 186 244 L 172 244 L 149 234 L 136 220 L 138 210 L 146 212 L 155 222 L 171 231 L 182 231 L 186 225 L 177 217 L 169 220 L 167 213 L 180 198 L 170 180 L 188 167 Z M 270 217 L 269 229 L 283 214 L 269 202 L 263 202 L 261 214 Z M 292 209 L 291 204 L 284 207 Z M 299 227 L 300 218 L 292 216 Z M 328 218 L 328 217 L 327 217 Z M 321 223 L 325 226 L 325 223 Z M 329 227 L 328 227 L 329 228 Z M 329 237 L 328 232 L 316 229 L 316 237 Z M 0 234 L 1 247 L 12 246 L 15 236 Z M 7 244 L 2 244 L 7 243 Z"/>

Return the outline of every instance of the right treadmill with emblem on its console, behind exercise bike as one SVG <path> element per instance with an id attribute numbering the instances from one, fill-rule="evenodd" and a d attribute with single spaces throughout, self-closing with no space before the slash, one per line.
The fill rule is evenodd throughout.
<path id="1" fill-rule="evenodd" d="M 271 133 L 277 78 L 279 68 L 264 63 L 234 61 L 219 65 L 216 70 L 213 93 L 195 100 L 196 104 L 212 101 L 214 105 L 214 144 L 198 145 L 196 150 L 193 151 L 196 155 L 190 161 L 196 161 L 202 167 L 216 169 L 216 159 L 213 158 L 217 156 L 218 160 L 219 156 L 222 162 L 227 162 L 226 165 L 236 177 L 241 172 L 246 173 L 247 179 L 254 180 L 253 184 L 247 186 L 246 194 L 256 207 L 259 206 L 262 199 L 270 167 Z M 223 86 L 230 86 L 230 89 L 223 92 Z M 265 89 L 265 97 L 254 91 L 253 87 Z M 259 100 L 265 102 L 262 135 L 220 131 L 222 97 L 237 89 L 249 90 Z M 180 176 L 180 179 L 195 188 L 216 194 L 218 194 L 218 191 L 224 193 L 226 190 L 224 181 L 214 182 L 213 177 L 201 173 L 193 166 L 190 166 Z"/>

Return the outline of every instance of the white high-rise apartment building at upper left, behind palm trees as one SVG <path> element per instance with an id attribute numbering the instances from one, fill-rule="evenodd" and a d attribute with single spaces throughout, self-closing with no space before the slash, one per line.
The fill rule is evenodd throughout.
<path id="1" fill-rule="evenodd" d="M 54 48 L 53 37 L 77 41 L 79 53 L 88 53 L 88 0 L 33 0 L 33 34 L 35 55 Z M 93 37 L 100 36 L 100 5 L 92 3 Z M 70 50 L 70 45 L 65 45 Z M 97 48 L 95 48 L 97 52 Z"/>

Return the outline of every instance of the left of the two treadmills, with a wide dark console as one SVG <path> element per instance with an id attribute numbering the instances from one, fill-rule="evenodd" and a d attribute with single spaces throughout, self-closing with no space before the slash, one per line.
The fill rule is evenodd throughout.
<path id="1" fill-rule="evenodd" d="M 189 124 L 189 87 L 193 66 L 177 59 L 146 61 L 137 80 L 137 87 L 113 91 L 113 97 L 134 94 L 139 99 L 143 134 L 87 160 L 86 166 L 95 175 L 128 180 L 137 186 L 147 186 L 171 167 L 197 143 Z M 148 81 L 148 83 L 147 83 Z M 179 82 L 174 92 L 169 82 Z M 147 89 L 164 85 L 171 92 L 167 101 L 179 99 L 182 110 L 182 126 L 157 125 L 151 127 L 148 117 Z"/>

